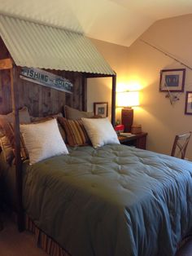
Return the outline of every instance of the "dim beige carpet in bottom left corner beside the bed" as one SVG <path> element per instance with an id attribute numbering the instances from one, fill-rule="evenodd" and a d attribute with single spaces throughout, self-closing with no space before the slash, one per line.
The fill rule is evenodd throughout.
<path id="1" fill-rule="evenodd" d="M 10 219 L 4 219 L 3 226 L 0 231 L 0 256 L 47 256 L 42 249 L 37 248 L 33 234 L 18 232 Z"/>

